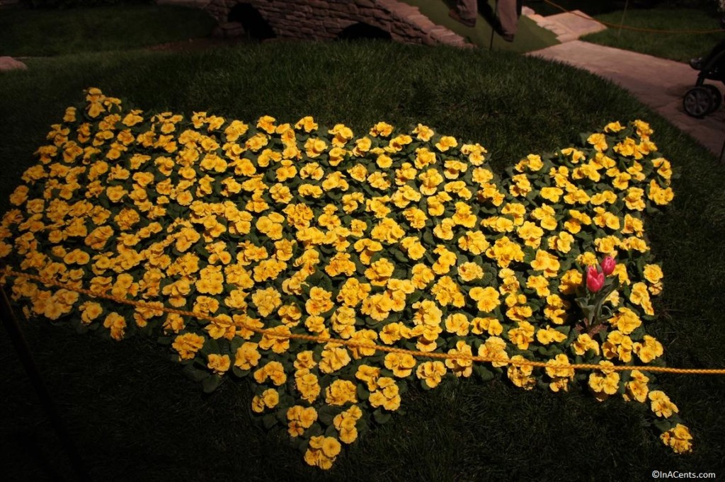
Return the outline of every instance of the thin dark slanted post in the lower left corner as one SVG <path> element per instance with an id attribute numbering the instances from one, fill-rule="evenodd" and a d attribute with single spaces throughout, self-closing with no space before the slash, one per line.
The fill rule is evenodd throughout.
<path id="1" fill-rule="evenodd" d="M 85 465 L 83 465 L 83 460 L 80 457 L 80 452 L 78 452 L 77 447 L 73 443 L 70 433 L 67 431 L 65 423 L 63 423 L 62 417 L 60 416 L 57 407 L 50 396 L 48 388 L 43 382 L 43 378 L 38 370 L 38 365 L 36 365 L 35 360 L 33 360 L 33 356 L 30 354 L 28 341 L 26 341 L 25 336 L 22 335 L 20 325 L 17 323 L 17 317 L 15 317 L 12 310 L 12 305 L 5 293 L 4 286 L 0 286 L 0 292 L 0 317 L 2 318 L 2 324 L 7 331 L 12 344 L 14 345 L 15 352 L 17 352 L 17 355 L 20 358 L 20 362 L 25 368 L 25 372 L 28 373 L 30 383 L 32 383 L 36 394 L 38 394 L 38 399 L 43 406 L 43 410 L 45 410 L 48 415 L 50 423 L 56 431 L 58 438 L 60 439 L 60 442 L 70 459 L 70 464 L 75 472 L 75 475 L 78 477 L 79 481 L 90 481 L 91 479 L 88 477 L 88 472 L 86 471 Z"/>

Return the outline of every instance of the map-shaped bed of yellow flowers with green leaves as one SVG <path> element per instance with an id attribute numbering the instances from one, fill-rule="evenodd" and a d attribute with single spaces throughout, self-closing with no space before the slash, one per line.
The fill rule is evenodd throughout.
<path id="1" fill-rule="evenodd" d="M 647 404 L 663 443 L 691 449 L 652 375 L 609 369 L 662 364 L 663 346 L 645 329 L 663 288 L 645 213 L 671 201 L 672 171 L 646 122 L 612 122 L 499 178 L 484 147 L 424 125 L 403 133 L 379 122 L 358 136 L 311 117 L 187 119 L 129 109 L 97 88 L 86 94 L 12 194 L 0 257 L 153 305 L 5 276 L 28 317 L 117 340 L 160 336 L 207 391 L 229 373 L 251 378 L 252 410 L 323 469 L 341 444 L 398 410 L 410 383 L 429 389 L 473 375 Z M 604 257 L 616 259 L 611 273 L 594 268 Z M 587 306 L 605 275 L 611 292 Z M 597 317 L 584 315 L 595 308 Z M 465 354 L 499 361 L 457 358 Z M 579 362 L 602 368 L 568 367 Z"/>

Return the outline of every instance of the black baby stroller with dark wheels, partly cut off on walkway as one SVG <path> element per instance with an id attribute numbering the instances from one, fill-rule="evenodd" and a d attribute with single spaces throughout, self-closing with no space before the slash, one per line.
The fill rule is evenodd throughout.
<path id="1" fill-rule="evenodd" d="M 692 59 L 689 65 L 699 70 L 695 87 L 690 88 L 682 99 L 684 112 L 691 117 L 702 118 L 715 112 L 723 101 L 720 89 L 705 80 L 725 83 L 725 41 L 718 43 L 707 57 Z"/>

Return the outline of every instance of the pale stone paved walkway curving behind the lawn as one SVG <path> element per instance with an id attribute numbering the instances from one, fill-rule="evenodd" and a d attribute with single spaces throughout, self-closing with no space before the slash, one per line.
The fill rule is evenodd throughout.
<path id="1" fill-rule="evenodd" d="M 572 14 L 539 19 L 549 24 L 547 26 L 539 20 L 542 27 L 555 33 L 558 33 L 557 30 L 566 32 L 568 37 L 562 35 L 560 40 L 563 43 L 529 52 L 528 55 L 563 62 L 612 80 L 720 157 L 725 142 L 725 107 L 703 119 L 689 117 L 682 107 L 684 94 L 695 86 L 696 70 L 681 62 L 573 39 L 589 33 L 591 25 Z M 581 29 L 581 33 L 577 32 L 577 28 Z M 707 83 L 723 91 L 722 83 Z"/>

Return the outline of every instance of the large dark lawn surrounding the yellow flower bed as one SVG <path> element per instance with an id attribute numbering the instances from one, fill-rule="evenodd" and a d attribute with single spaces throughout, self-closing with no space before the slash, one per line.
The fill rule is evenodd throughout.
<path id="1" fill-rule="evenodd" d="M 128 51 L 28 61 L 0 76 L 0 210 L 33 164 L 49 126 L 96 86 L 148 112 L 194 111 L 253 121 L 272 115 L 363 133 L 385 120 L 418 122 L 480 142 L 499 170 L 531 152 L 579 141 L 613 120 L 643 119 L 679 169 L 676 198 L 647 222 L 666 273 L 648 331 L 668 365 L 725 367 L 725 175 L 708 151 L 612 83 L 516 54 L 390 43 L 265 43 L 192 54 Z M 542 79 L 544 81 L 542 81 Z M 283 430 L 254 422 L 246 381 L 218 391 L 183 377 L 147 339 L 107 341 L 65 326 L 22 330 L 80 448 L 103 481 L 606 481 L 651 480 L 653 470 L 725 466 L 722 376 L 659 375 L 695 436 L 676 456 L 647 426 L 646 407 L 599 403 L 584 390 L 523 391 L 507 381 L 449 381 L 409 391 L 392 421 L 365 433 L 329 472 L 309 468 Z M 62 445 L 5 336 L 0 336 L 0 451 L 8 480 L 70 478 Z"/>

